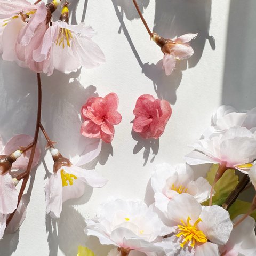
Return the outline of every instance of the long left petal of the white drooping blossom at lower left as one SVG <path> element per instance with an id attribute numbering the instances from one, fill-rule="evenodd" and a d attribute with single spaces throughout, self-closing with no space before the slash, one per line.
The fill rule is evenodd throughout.
<path id="1" fill-rule="evenodd" d="M 62 211 L 62 181 L 60 171 L 52 174 L 45 184 L 46 213 L 59 218 Z"/>

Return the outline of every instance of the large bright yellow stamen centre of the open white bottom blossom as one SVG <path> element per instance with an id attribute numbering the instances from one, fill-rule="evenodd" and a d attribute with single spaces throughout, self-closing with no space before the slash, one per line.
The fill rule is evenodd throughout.
<path id="1" fill-rule="evenodd" d="M 194 247 L 195 243 L 206 243 L 207 242 L 207 237 L 205 234 L 197 229 L 197 224 L 201 222 L 202 220 L 200 218 L 197 219 L 197 221 L 194 223 L 192 226 L 190 222 L 191 218 L 188 217 L 187 223 L 185 223 L 183 220 L 181 220 L 183 225 L 178 225 L 179 227 L 179 233 L 176 235 L 177 237 L 182 237 L 182 243 L 180 244 L 180 247 L 184 247 L 186 243 L 191 241 L 190 246 Z"/>

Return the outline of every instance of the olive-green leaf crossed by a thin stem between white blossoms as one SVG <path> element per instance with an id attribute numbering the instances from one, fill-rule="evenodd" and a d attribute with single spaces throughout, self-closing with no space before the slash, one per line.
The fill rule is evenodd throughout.
<path id="1" fill-rule="evenodd" d="M 218 167 L 218 164 L 213 164 L 211 170 L 207 173 L 206 180 L 210 183 L 210 185 L 213 184 Z M 235 170 L 226 170 L 214 187 L 215 194 L 212 197 L 212 204 L 222 205 L 231 191 L 235 189 L 238 182 L 238 176 L 235 175 Z M 209 205 L 209 200 L 203 202 L 202 205 Z"/>

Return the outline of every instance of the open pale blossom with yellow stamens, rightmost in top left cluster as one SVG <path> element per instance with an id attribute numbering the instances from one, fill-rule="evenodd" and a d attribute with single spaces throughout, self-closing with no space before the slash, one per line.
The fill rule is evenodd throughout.
<path id="1" fill-rule="evenodd" d="M 105 62 L 100 47 L 92 41 L 92 27 L 69 25 L 63 21 L 53 22 L 40 46 L 33 52 L 33 60 L 42 62 L 49 59 L 49 65 L 63 73 L 76 71 L 79 67 L 98 67 Z M 51 75 L 53 69 L 43 70 Z"/>

